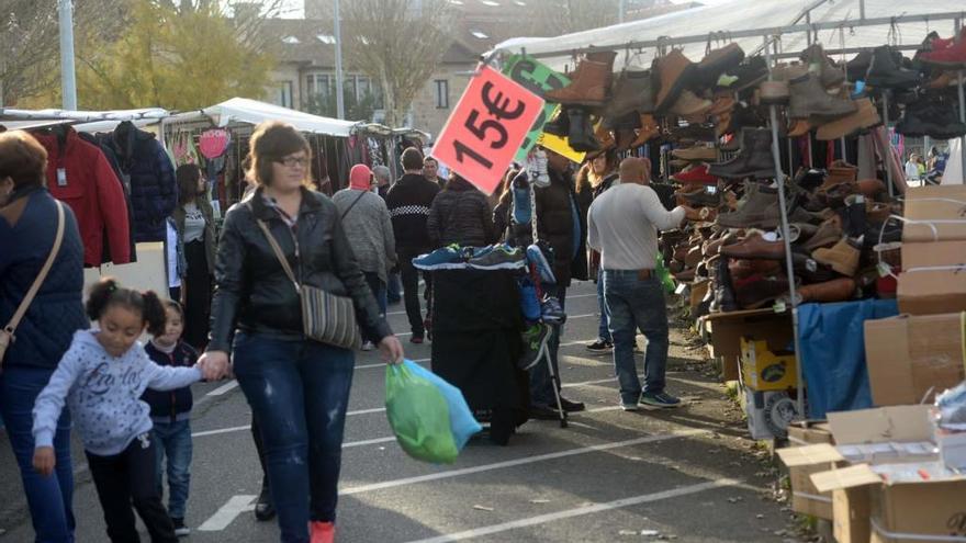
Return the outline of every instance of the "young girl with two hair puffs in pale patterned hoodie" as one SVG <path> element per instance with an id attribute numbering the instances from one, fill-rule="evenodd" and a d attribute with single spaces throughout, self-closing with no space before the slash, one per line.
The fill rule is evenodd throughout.
<path id="1" fill-rule="evenodd" d="M 102 279 L 91 289 L 87 313 L 99 329 L 75 333 L 34 404 L 34 467 L 45 476 L 54 470 L 52 440 L 66 400 L 83 440 L 111 541 L 137 541 L 133 504 L 153 542 L 175 542 L 175 525 L 155 484 L 150 410 L 141 396 L 148 387 L 188 386 L 202 373 L 198 366 L 159 366 L 138 341 L 145 329 L 164 333 L 165 308 L 154 292 Z"/>

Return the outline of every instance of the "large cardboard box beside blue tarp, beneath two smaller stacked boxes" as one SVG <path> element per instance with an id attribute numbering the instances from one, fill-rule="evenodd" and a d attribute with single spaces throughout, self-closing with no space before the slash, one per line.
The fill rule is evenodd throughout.
<path id="1" fill-rule="evenodd" d="M 961 326 L 961 314 L 866 320 L 873 401 L 878 406 L 931 401 L 930 391 L 939 394 L 966 378 Z"/>

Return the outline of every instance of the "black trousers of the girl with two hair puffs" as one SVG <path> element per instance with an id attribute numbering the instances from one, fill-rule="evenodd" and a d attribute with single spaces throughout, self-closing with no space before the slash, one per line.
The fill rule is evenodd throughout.
<path id="1" fill-rule="evenodd" d="M 155 479 L 155 443 L 150 432 L 138 435 L 113 456 L 85 451 L 98 499 L 104 510 L 108 538 L 113 543 L 137 543 L 134 511 L 147 527 L 153 543 L 175 543 L 175 524 L 161 504 Z"/>

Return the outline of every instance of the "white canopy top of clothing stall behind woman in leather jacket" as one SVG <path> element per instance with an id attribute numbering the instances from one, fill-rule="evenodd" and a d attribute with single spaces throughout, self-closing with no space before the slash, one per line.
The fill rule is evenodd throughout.
<path id="1" fill-rule="evenodd" d="M 358 124 L 353 121 L 323 117 L 247 98 L 233 98 L 200 111 L 180 113 L 168 122 L 190 122 L 205 117 L 217 126 L 228 126 L 233 123 L 256 125 L 265 121 L 282 121 L 301 132 L 338 137 L 348 137 L 352 127 Z"/>

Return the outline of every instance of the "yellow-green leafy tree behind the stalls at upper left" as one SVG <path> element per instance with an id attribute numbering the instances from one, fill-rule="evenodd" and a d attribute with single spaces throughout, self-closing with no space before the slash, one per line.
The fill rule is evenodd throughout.
<path id="1" fill-rule="evenodd" d="M 216 2 L 192 9 L 133 0 L 113 43 L 78 54 L 78 101 L 85 109 L 161 106 L 192 110 L 232 97 L 259 99 L 274 66 Z"/>

